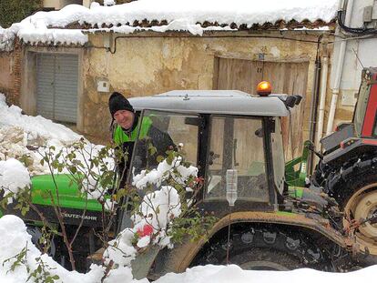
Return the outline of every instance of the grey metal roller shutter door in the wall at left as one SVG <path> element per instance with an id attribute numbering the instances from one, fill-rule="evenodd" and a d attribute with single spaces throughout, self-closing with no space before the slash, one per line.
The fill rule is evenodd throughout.
<path id="1" fill-rule="evenodd" d="M 36 111 L 60 122 L 76 123 L 78 56 L 36 57 Z"/>

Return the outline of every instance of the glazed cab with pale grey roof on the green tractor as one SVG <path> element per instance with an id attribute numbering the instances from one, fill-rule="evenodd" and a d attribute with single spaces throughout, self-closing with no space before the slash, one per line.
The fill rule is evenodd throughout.
<path id="1" fill-rule="evenodd" d="M 285 97 L 284 97 L 285 98 Z M 197 201 L 222 216 L 228 210 L 227 174 L 237 175 L 236 211 L 273 210 L 284 188 L 280 117 L 288 116 L 279 96 L 240 91 L 171 91 L 131 98 L 142 122 L 152 121 L 156 137 L 136 142 L 128 183 L 142 170 L 158 167 L 167 151 L 181 147 L 186 161 L 199 168 L 204 189 Z M 155 148 L 150 151 L 151 146 Z M 149 150 L 148 150 L 149 149 Z M 235 196 L 233 196 L 235 197 Z"/>

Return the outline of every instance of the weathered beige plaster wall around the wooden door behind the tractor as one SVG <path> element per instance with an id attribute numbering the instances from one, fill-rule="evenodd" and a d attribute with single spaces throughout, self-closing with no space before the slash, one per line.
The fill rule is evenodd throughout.
<path id="1" fill-rule="evenodd" d="M 259 60 L 259 55 L 264 54 L 264 59 L 271 62 L 309 62 L 304 100 L 304 138 L 309 136 L 311 87 L 318 35 L 290 35 L 313 41 L 306 43 L 263 37 L 157 37 L 139 34 L 118 38 L 116 44 L 114 38 L 108 36 L 89 35 L 92 47 L 88 49 L 83 62 L 84 129 L 89 135 L 108 133 L 111 119 L 107 99 L 112 91 L 131 97 L 154 95 L 173 89 L 212 89 L 216 76 L 216 57 Z M 115 54 L 103 48 L 109 42 Z M 97 91 L 98 80 L 108 80 L 108 93 Z"/>

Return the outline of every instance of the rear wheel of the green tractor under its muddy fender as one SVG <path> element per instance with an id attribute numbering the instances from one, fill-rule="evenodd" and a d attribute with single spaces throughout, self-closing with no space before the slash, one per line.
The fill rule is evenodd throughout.
<path id="1" fill-rule="evenodd" d="M 229 242 L 228 262 L 228 241 L 212 240 L 191 266 L 228 263 L 248 270 L 333 270 L 324 249 L 316 247 L 316 241 L 303 235 L 276 227 L 251 227 L 246 231 L 235 231 Z"/>

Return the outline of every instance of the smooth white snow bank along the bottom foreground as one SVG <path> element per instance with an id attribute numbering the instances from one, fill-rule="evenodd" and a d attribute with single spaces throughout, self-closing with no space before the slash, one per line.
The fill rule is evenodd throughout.
<path id="1" fill-rule="evenodd" d="M 24 222 L 15 216 L 5 216 L 0 218 L 0 282 L 26 282 L 28 277 L 25 265 L 15 268 L 15 271 L 8 271 L 15 262 L 15 255 L 19 254 L 23 248 L 27 247 L 27 257 L 25 263 L 32 270 L 37 268 L 36 258 L 41 258 L 51 275 L 59 277 L 56 282 L 70 283 L 99 283 L 103 276 L 104 269 L 97 265 L 92 265 L 87 274 L 76 271 L 67 271 L 58 265 L 52 258 L 41 255 L 39 250 L 31 242 L 31 236 L 27 234 Z M 129 234 L 128 238 L 132 235 Z M 124 243 L 127 246 L 127 242 Z M 123 248 L 123 247 L 122 247 Z M 6 259 L 12 258 L 9 261 Z M 121 261 L 117 259 L 117 261 Z M 363 280 L 373 282 L 377 266 L 363 268 L 349 273 L 329 273 L 316 271 L 309 268 L 297 269 L 293 271 L 251 271 L 242 270 L 238 266 L 213 266 L 188 268 L 180 274 L 168 273 L 156 280 L 156 283 L 249 283 L 249 282 L 290 282 L 301 283 L 303 278 L 306 283 L 331 283 L 343 282 L 353 283 Z M 33 278 L 29 282 L 36 282 Z M 106 283 L 148 283 L 147 279 L 136 280 L 132 278 L 130 268 L 118 268 L 110 272 L 110 277 L 105 279 Z"/>

